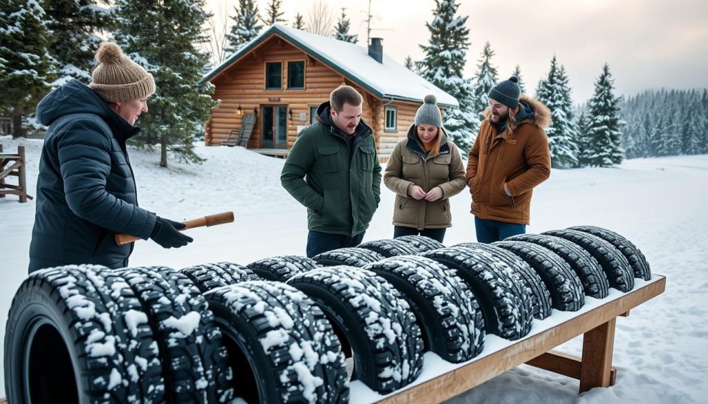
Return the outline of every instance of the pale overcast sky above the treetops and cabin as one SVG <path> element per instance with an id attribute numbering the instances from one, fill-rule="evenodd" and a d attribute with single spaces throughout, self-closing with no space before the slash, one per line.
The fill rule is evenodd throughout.
<path id="1" fill-rule="evenodd" d="M 554 54 L 566 67 L 573 100 L 593 95 L 603 64 L 610 64 L 618 94 L 634 95 L 649 88 L 708 87 L 707 0 L 462 0 L 458 14 L 469 16 L 466 78 L 474 76 L 477 59 L 489 41 L 492 64 L 506 79 L 516 64 L 527 91 L 547 73 Z M 237 0 L 207 0 L 212 10 Z M 259 0 L 265 13 L 267 0 Z M 282 0 L 286 24 L 295 13 L 307 15 L 314 0 Z M 351 33 L 366 45 L 368 0 L 329 0 L 336 17 L 347 8 Z M 433 0 L 371 0 L 375 20 L 372 37 L 384 38 L 384 53 L 403 63 L 423 57 L 418 44 L 430 37 Z M 307 21 L 307 16 L 306 16 Z M 336 18 L 335 18 L 336 21 Z"/>

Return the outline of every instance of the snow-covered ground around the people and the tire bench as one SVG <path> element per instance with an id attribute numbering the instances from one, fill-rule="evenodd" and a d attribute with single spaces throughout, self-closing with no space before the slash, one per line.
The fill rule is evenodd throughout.
<path id="1" fill-rule="evenodd" d="M 28 187 L 35 195 L 37 140 L 0 137 L 5 151 L 23 145 Z M 198 146 L 201 166 L 170 162 L 131 149 L 142 207 L 173 220 L 233 210 L 234 224 L 193 229 L 185 248 L 164 250 L 139 241 L 131 265 L 181 268 L 205 262 L 246 264 L 270 255 L 304 255 L 307 223 L 301 207 L 280 187 L 282 160 L 240 147 Z M 11 180 L 12 181 L 12 180 Z M 365 241 L 390 238 L 394 195 L 382 203 Z M 666 275 L 666 292 L 617 320 L 617 384 L 578 396 L 578 381 L 525 365 L 508 371 L 454 403 L 706 403 L 708 396 L 708 156 L 626 161 L 619 168 L 554 170 L 535 191 L 530 233 L 579 224 L 607 227 L 633 241 L 653 272 Z M 452 198 L 446 245 L 474 241 L 469 194 Z M 0 199 L 0 339 L 12 297 L 27 274 L 34 201 Z M 558 350 L 581 353 L 582 338 Z M 1 359 L 1 358 L 0 358 Z M 0 361 L 1 363 L 1 361 Z M 359 387 L 359 386 L 355 386 Z M 0 380 L 0 396 L 4 381 Z"/>

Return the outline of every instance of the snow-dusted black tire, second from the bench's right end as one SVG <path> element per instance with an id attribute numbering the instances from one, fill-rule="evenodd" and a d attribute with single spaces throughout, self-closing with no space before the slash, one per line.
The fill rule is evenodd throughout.
<path id="1" fill-rule="evenodd" d="M 627 258 L 624 258 L 624 255 L 609 242 L 598 236 L 577 230 L 551 230 L 542 234 L 565 238 L 587 250 L 602 265 L 610 287 L 620 292 L 629 292 L 634 288 L 632 267 L 629 266 Z"/>

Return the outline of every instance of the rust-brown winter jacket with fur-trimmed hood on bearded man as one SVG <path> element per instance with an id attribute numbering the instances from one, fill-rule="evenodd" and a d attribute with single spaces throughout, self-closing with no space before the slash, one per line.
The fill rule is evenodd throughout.
<path id="1" fill-rule="evenodd" d="M 529 224 L 531 196 L 536 185 L 551 175 L 551 154 L 543 128 L 551 112 L 538 100 L 522 96 L 534 115 L 511 124 L 512 135 L 503 139 L 484 111 L 477 139 L 467 157 L 467 184 L 472 193 L 472 214 L 480 219 Z M 511 196 L 504 191 L 504 183 Z"/>

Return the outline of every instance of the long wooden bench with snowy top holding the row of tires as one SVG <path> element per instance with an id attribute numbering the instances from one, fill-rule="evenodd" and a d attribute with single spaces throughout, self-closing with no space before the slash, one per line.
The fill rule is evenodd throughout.
<path id="1" fill-rule="evenodd" d="M 351 403 L 440 403 L 468 391 L 495 376 L 530 364 L 580 380 L 580 391 L 609 387 L 617 370 L 612 367 L 615 321 L 628 316 L 629 310 L 663 293 L 666 277 L 653 275 L 649 281 L 634 279 L 631 292 L 610 289 L 605 299 L 586 296 L 586 305 L 575 313 L 553 311 L 544 321 L 535 321 L 531 332 L 520 340 L 503 340 L 487 335 L 479 356 L 462 364 L 450 364 L 435 354 L 426 353 L 426 362 L 418 380 L 406 388 L 380 396 L 359 381 L 352 383 Z M 554 347 L 583 335 L 583 357 L 553 351 Z"/>

